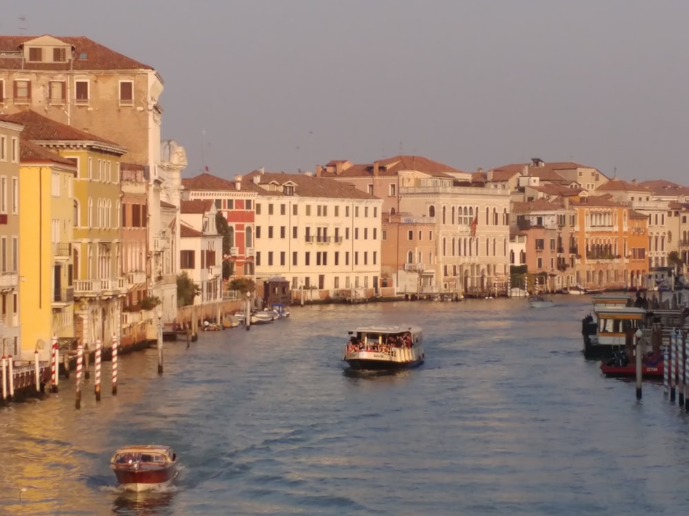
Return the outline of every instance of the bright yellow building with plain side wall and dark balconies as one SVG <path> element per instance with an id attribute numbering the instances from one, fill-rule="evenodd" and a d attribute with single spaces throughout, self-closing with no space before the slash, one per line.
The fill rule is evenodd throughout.
<path id="1" fill-rule="evenodd" d="M 21 140 L 20 159 L 22 358 L 30 360 L 34 350 L 39 350 L 41 360 L 48 360 L 53 335 L 74 336 L 72 182 L 76 166 L 28 140 Z"/>

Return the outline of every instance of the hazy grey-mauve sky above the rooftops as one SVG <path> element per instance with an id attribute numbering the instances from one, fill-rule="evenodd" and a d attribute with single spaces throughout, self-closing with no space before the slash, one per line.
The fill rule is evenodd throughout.
<path id="1" fill-rule="evenodd" d="M 2 3 L 2 34 L 88 36 L 155 67 L 187 176 L 404 153 L 689 184 L 686 0 Z"/>

